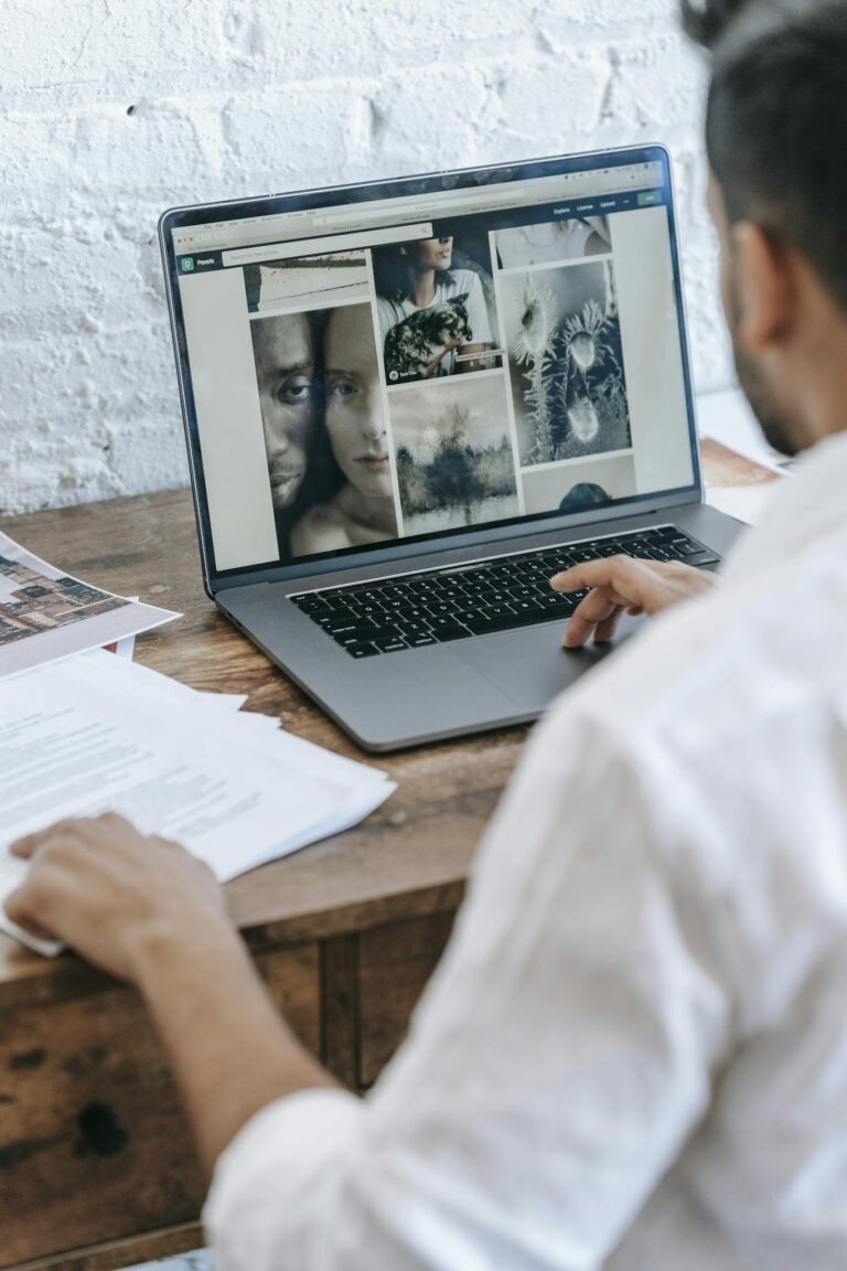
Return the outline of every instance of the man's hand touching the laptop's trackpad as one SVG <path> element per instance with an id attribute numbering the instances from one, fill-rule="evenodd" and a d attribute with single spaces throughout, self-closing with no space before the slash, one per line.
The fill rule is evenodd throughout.
<path id="1" fill-rule="evenodd" d="M 597 644 L 615 638 L 621 614 L 660 613 L 681 600 L 710 591 L 717 582 L 714 573 L 693 569 L 679 561 L 636 561 L 634 557 L 607 557 L 577 564 L 550 580 L 554 591 L 582 591 L 589 587 L 565 630 L 565 648 L 582 648 L 594 637 Z"/>

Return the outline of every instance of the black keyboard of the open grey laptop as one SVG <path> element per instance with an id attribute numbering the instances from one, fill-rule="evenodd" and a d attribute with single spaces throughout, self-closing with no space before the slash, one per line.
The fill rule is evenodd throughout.
<path id="1" fill-rule="evenodd" d="M 570 618 L 585 591 L 560 595 L 550 577 L 602 557 L 714 566 L 720 557 L 672 525 L 568 543 L 423 573 L 306 591 L 290 599 L 350 657 L 376 657 Z"/>

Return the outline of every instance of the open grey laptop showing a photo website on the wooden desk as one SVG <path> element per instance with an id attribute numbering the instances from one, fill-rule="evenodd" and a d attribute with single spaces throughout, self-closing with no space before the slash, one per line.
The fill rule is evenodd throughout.
<path id="1" fill-rule="evenodd" d="M 670 164 L 639 146 L 178 207 L 203 581 L 366 750 L 537 717 L 569 564 L 716 569 Z"/>

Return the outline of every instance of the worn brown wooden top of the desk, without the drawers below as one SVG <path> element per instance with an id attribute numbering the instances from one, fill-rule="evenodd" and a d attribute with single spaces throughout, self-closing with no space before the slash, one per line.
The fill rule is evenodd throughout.
<path id="1" fill-rule="evenodd" d="M 245 709 L 356 759 L 326 716 L 221 616 L 206 596 L 188 491 L 112 500 L 0 521 L 30 552 L 97 586 L 183 614 L 141 636 L 136 660 L 206 691 L 245 693 Z M 380 756 L 399 782 L 354 830 L 235 880 L 227 895 L 248 939 L 325 939 L 453 910 L 481 831 L 518 759 L 526 728 Z M 0 937 L 0 1008 L 88 991 L 95 972 Z"/>

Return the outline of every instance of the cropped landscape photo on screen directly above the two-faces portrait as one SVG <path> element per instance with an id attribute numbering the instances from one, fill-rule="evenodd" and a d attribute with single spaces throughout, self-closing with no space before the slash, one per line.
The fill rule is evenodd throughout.
<path id="1" fill-rule="evenodd" d="M 251 314 L 367 301 L 366 253 L 337 252 L 246 264 L 244 286 Z"/>

